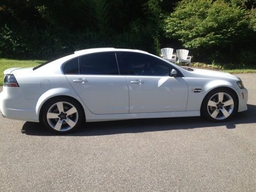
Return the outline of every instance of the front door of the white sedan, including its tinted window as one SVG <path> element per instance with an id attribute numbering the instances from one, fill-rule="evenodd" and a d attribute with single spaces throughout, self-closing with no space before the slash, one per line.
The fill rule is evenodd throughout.
<path id="1" fill-rule="evenodd" d="M 181 77 L 170 77 L 173 66 L 156 57 L 122 52 L 118 56 L 129 87 L 130 113 L 185 111 L 188 86 Z"/>

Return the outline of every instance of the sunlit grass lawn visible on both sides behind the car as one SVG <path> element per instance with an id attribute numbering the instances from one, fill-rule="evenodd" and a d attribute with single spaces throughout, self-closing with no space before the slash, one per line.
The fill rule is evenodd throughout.
<path id="1" fill-rule="evenodd" d="M 1 59 L 0 58 L 0 85 L 3 85 L 4 79 L 4 70 L 12 67 L 35 67 L 40 65 L 45 61 L 42 60 L 13 60 L 13 59 Z M 215 69 L 225 71 L 231 74 L 238 73 L 256 73 L 256 65 L 255 66 L 235 66 L 235 65 L 207 65 L 206 63 L 192 63 L 190 67 L 199 67 L 206 69 Z"/>

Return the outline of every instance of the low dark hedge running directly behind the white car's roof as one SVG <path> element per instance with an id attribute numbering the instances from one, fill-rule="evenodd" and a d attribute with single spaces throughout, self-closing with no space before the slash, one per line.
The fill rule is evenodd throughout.
<path id="1" fill-rule="evenodd" d="M 0 56 L 21 59 L 52 59 L 75 50 L 95 47 L 140 49 L 157 53 L 159 42 L 151 35 L 150 26 L 136 21 L 127 32 L 105 35 L 95 31 L 63 33 L 65 29 L 2 27 Z M 28 35 L 29 34 L 29 35 Z M 157 47 L 157 49 L 155 48 Z"/>

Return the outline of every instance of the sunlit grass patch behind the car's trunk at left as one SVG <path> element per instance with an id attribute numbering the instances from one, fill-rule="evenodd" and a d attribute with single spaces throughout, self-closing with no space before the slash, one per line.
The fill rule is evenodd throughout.
<path id="1" fill-rule="evenodd" d="M 13 60 L 13 59 L 1 59 L 0 58 L 0 85 L 3 85 L 4 70 L 12 67 L 35 67 L 45 61 L 41 60 Z"/>

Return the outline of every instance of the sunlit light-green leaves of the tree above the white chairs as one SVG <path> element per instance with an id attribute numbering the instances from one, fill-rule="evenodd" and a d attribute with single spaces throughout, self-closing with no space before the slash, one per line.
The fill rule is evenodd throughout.
<path id="1" fill-rule="evenodd" d="M 177 37 L 190 49 L 229 46 L 246 34 L 245 11 L 218 0 L 182 1 L 165 20 L 167 35 Z M 239 38 L 238 38 L 239 37 Z"/>

